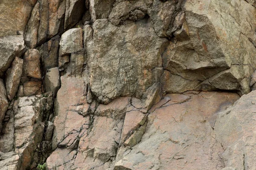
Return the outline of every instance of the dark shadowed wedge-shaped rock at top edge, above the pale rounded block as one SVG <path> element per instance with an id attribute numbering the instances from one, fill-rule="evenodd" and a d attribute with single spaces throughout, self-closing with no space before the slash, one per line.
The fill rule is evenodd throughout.
<path id="1" fill-rule="evenodd" d="M 85 11 L 84 0 L 66 0 L 64 29 L 72 28 L 82 18 Z"/>

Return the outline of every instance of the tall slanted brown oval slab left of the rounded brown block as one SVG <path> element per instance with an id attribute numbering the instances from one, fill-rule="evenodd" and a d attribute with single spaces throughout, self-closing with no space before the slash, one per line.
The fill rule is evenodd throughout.
<path id="1" fill-rule="evenodd" d="M 11 68 L 6 72 L 6 92 L 10 101 L 15 97 L 22 75 L 23 59 L 15 57 L 12 62 Z"/>

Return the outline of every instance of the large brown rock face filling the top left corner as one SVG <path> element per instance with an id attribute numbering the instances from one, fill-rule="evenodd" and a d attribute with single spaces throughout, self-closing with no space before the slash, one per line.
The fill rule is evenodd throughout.
<path id="1" fill-rule="evenodd" d="M 0 37 L 24 31 L 35 3 L 36 0 L 1 0 Z"/>

